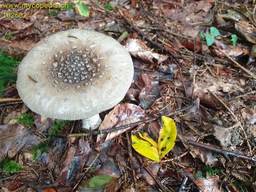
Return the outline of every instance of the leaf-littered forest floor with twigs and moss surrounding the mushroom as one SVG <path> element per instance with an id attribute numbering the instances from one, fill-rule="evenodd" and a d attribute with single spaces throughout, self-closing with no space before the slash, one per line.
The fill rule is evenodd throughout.
<path id="1" fill-rule="evenodd" d="M 0 1 L 0 191 L 256 191 L 253 1 L 67 3 Z M 103 132 L 32 112 L 15 86 L 28 51 L 73 28 L 113 37 L 133 59 Z M 175 145 L 158 156 L 165 129 Z"/>

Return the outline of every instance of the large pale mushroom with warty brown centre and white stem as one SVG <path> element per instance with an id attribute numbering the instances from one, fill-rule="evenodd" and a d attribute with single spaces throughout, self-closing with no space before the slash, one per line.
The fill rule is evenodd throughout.
<path id="1" fill-rule="evenodd" d="M 42 116 L 83 119 L 83 129 L 96 129 L 99 113 L 123 99 L 133 74 L 130 54 L 114 38 L 71 29 L 28 52 L 18 67 L 17 90 Z"/>

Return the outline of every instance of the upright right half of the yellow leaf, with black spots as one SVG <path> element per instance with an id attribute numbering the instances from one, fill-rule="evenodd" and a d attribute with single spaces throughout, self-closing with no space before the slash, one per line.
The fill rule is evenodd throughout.
<path id="1" fill-rule="evenodd" d="M 173 119 L 162 116 L 162 121 L 163 127 L 159 132 L 158 138 L 160 159 L 162 159 L 170 150 L 172 150 L 177 136 L 176 124 Z"/>

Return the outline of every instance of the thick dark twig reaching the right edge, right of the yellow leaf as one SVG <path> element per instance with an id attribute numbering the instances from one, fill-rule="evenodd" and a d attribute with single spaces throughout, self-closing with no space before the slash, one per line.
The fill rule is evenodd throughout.
<path id="1" fill-rule="evenodd" d="M 194 142 L 194 141 L 191 141 L 191 140 L 188 140 L 187 143 L 190 144 L 190 145 L 198 146 L 200 148 L 204 148 L 205 150 L 208 150 L 208 151 L 214 151 L 216 153 L 219 153 L 228 162 L 230 161 L 228 156 L 234 156 L 234 157 L 237 157 L 237 158 L 240 158 L 240 159 L 244 159 L 244 160 L 256 163 L 256 158 L 253 157 L 253 156 L 246 156 L 246 155 L 242 155 L 242 154 L 239 154 L 239 153 L 228 152 L 226 150 L 221 150 L 220 148 L 216 148 L 216 147 L 209 146 L 209 145 L 206 145 L 206 144 Z"/>

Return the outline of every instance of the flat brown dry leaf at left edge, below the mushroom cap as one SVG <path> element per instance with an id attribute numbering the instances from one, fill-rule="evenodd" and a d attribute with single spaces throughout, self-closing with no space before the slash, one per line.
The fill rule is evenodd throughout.
<path id="1" fill-rule="evenodd" d="M 0 159 L 13 158 L 30 139 L 32 132 L 20 124 L 0 125 Z"/>

